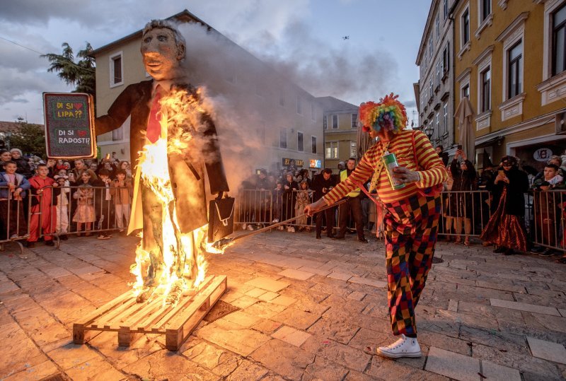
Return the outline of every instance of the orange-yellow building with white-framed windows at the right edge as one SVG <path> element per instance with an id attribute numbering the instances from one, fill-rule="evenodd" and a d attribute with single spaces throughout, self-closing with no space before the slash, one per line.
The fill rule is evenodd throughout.
<path id="1" fill-rule="evenodd" d="M 541 168 L 566 148 L 566 0 L 460 0 L 451 17 L 455 101 L 476 114 L 478 167 L 485 150 Z"/>

